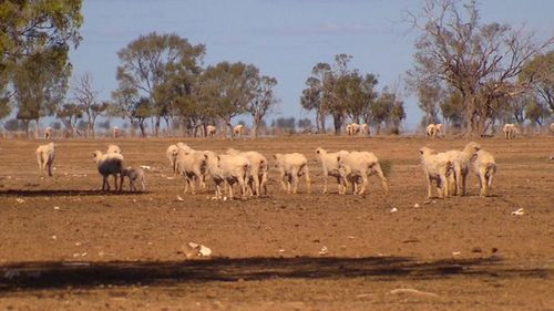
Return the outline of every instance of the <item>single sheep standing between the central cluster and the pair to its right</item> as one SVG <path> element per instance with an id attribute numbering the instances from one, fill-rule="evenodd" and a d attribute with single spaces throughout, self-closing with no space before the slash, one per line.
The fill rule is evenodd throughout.
<path id="1" fill-rule="evenodd" d="M 297 193 L 298 177 L 302 175 L 306 176 L 306 188 L 308 194 L 310 193 L 308 159 L 302 154 L 275 154 L 274 159 L 276 160 L 276 167 L 278 167 L 280 172 L 280 184 L 287 194 L 290 194 L 291 188 L 293 194 Z"/>

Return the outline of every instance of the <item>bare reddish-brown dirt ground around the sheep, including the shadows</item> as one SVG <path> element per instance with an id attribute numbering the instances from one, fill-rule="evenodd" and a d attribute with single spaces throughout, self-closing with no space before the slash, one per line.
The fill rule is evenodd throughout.
<path id="1" fill-rule="evenodd" d="M 91 153 L 110 141 L 59 141 L 51 178 L 38 176 L 43 141 L 0 141 L 0 309 L 554 310 L 553 137 L 478 141 L 499 164 L 493 196 L 470 176 L 468 196 L 431 201 L 417 151 L 468 141 L 181 139 L 310 159 L 311 194 L 285 194 L 271 168 L 267 197 L 227 201 L 183 195 L 165 158 L 177 141 L 115 142 L 127 164 L 152 167 L 143 194 L 99 190 Z M 389 160 L 390 194 L 373 177 L 365 196 L 334 180 L 321 195 L 318 146 Z M 189 241 L 213 256 L 187 259 Z"/>

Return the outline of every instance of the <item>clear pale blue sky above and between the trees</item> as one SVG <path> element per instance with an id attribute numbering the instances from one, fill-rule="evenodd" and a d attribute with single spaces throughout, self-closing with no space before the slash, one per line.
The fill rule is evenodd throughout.
<path id="1" fill-rule="evenodd" d="M 402 86 L 419 34 L 402 22 L 419 0 L 85 0 L 83 41 L 71 52 L 73 74 L 90 72 L 100 99 L 117 86 L 116 52 L 140 34 L 177 33 L 205 44 L 204 64 L 242 61 L 278 80 L 279 107 L 269 116 L 310 117 L 299 96 L 311 68 L 353 56 L 351 68 L 379 77 L 378 90 Z M 554 35 L 552 0 L 483 0 L 483 22 L 525 24 L 537 38 Z M 404 96 L 407 126 L 421 117 Z M 238 117 L 238 120 L 246 120 Z"/>

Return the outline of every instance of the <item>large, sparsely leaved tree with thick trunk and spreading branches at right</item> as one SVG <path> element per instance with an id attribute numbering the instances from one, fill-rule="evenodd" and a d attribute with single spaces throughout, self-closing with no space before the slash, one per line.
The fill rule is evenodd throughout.
<path id="1" fill-rule="evenodd" d="M 517 81 L 525 62 L 552 44 L 533 43 L 523 28 L 480 23 L 475 1 L 427 0 L 420 15 L 411 13 L 414 28 L 422 31 L 416 42 L 411 83 L 438 83 L 458 90 L 466 134 L 479 136 L 486 129 L 496 97 L 524 92 L 530 81 Z M 494 112 L 492 113 L 494 114 Z"/>

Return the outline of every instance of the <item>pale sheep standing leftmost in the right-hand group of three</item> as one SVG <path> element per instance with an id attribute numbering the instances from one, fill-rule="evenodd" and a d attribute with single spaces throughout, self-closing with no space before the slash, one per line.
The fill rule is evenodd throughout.
<path id="1" fill-rule="evenodd" d="M 437 183 L 439 197 L 448 197 L 450 195 L 448 178 L 453 170 L 452 162 L 444 153 L 433 154 L 428 147 L 422 147 L 419 153 L 428 183 L 428 198 L 432 198 L 432 182 Z"/>

